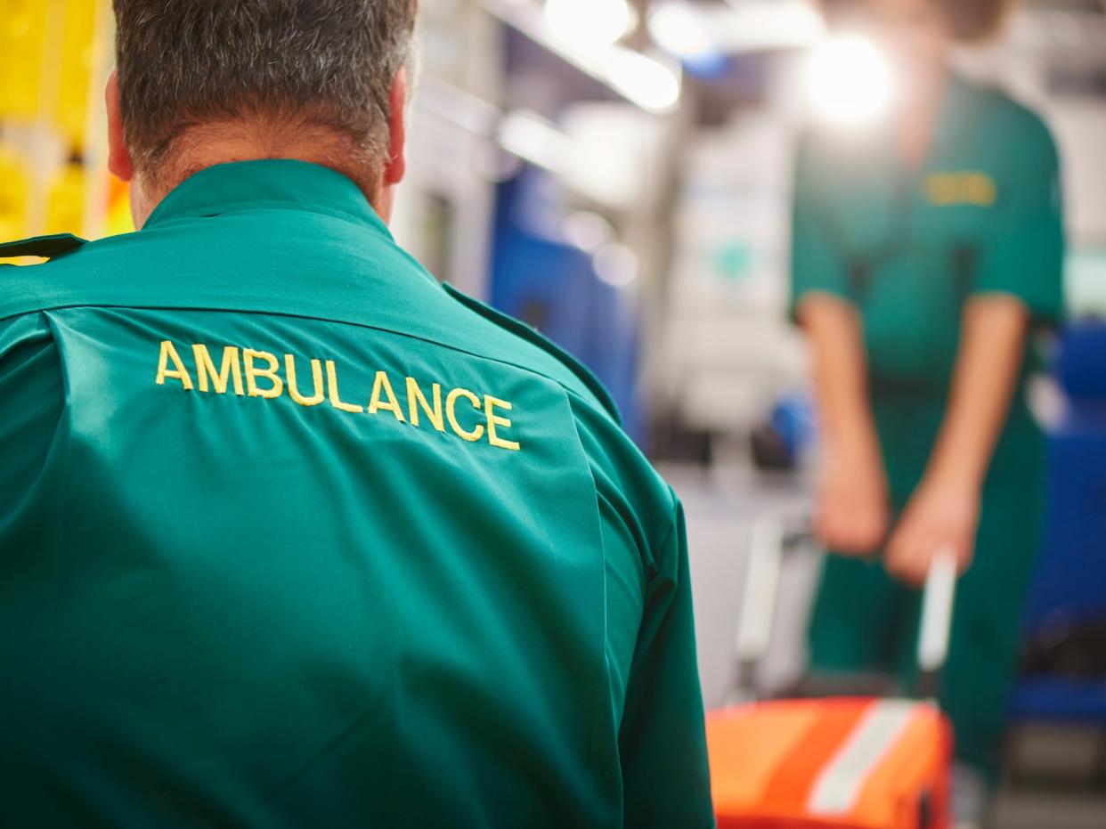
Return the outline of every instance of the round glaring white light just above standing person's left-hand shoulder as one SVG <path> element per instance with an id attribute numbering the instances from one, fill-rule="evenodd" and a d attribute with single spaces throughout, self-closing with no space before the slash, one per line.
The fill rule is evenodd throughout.
<path id="1" fill-rule="evenodd" d="M 895 82 L 890 63 L 859 36 L 823 42 L 806 67 L 811 102 L 832 124 L 870 124 L 890 108 Z"/>

